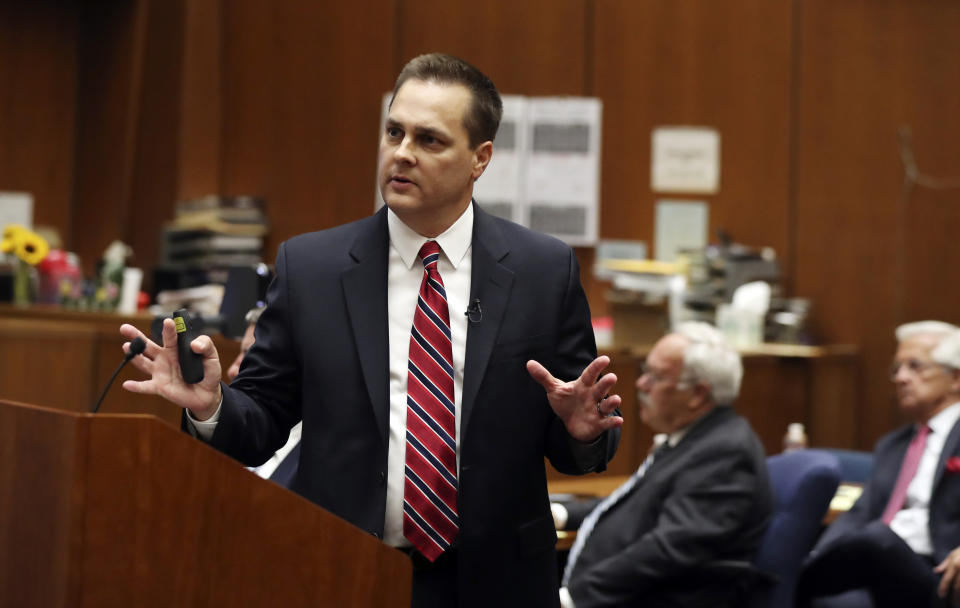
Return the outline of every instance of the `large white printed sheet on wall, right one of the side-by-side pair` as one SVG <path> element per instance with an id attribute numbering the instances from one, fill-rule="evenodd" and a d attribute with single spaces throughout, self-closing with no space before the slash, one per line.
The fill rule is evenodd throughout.
<path id="1" fill-rule="evenodd" d="M 571 245 L 593 245 L 602 103 L 587 97 L 532 97 L 527 103 L 525 223 Z"/>

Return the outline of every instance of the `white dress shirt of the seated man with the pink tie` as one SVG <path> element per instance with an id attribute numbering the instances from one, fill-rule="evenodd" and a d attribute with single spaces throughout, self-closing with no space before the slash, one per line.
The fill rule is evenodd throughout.
<path id="1" fill-rule="evenodd" d="M 943 444 L 958 418 L 960 402 L 938 412 L 927 422 L 930 434 L 927 435 L 927 444 L 920 456 L 920 465 L 907 486 L 903 508 L 897 511 L 890 522 L 890 529 L 920 555 L 933 554 L 933 542 L 930 540 L 930 495 L 933 493 L 933 477 L 937 472 Z"/>

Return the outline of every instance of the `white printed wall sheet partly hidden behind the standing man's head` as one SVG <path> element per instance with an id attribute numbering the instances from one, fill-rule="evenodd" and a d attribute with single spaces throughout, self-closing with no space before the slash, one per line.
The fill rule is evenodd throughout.
<path id="1" fill-rule="evenodd" d="M 503 96 L 503 118 L 493 141 L 493 158 L 473 187 L 483 209 L 517 223 L 524 222 L 523 175 L 527 158 L 527 98 Z"/>

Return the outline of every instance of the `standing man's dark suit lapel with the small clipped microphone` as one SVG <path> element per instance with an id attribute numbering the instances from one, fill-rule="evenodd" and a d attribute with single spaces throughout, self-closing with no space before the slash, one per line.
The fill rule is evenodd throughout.
<path id="1" fill-rule="evenodd" d="M 470 277 L 470 302 L 480 301 L 483 311 L 478 323 L 467 329 L 464 361 L 463 397 L 460 412 L 460 436 L 466 436 L 477 391 L 483 383 L 487 362 L 496 343 L 513 285 L 513 271 L 500 262 L 510 252 L 493 218 L 474 203 L 473 261 Z"/>

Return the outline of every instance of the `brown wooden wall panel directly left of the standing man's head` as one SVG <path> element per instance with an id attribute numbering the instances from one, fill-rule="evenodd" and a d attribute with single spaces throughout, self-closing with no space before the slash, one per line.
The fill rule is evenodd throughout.
<path id="1" fill-rule="evenodd" d="M 224 194 L 267 200 L 264 256 L 373 211 L 380 100 L 393 87 L 394 3 L 224 7 Z"/>

